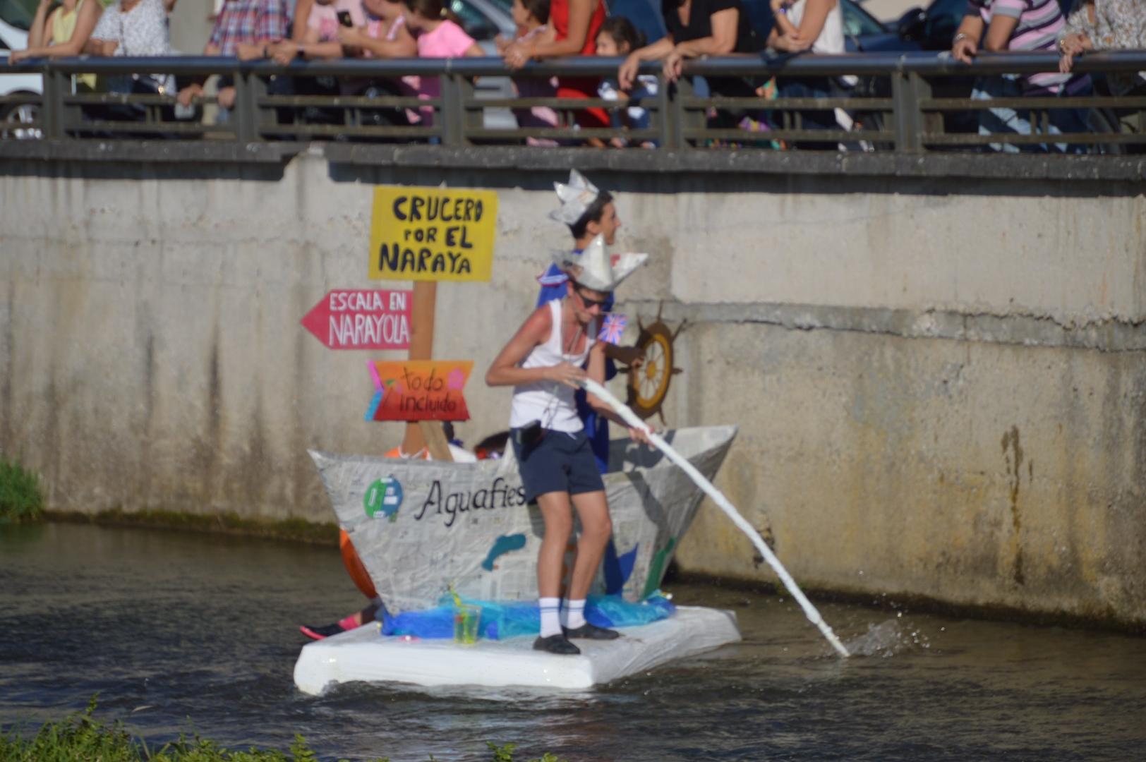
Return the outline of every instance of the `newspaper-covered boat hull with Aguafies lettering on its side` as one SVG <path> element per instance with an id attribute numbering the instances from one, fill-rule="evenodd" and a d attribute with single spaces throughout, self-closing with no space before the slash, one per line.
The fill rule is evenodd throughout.
<path id="1" fill-rule="evenodd" d="M 736 432 L 699 426 L 665 439 L 713 479 Z M 525 504 L 512 448 L 507 453 L 442 463 L 311 450 L 338 524 L 391 612 L 432 608 L 450 587 L 480 600 L 537 597 L 544 523 Z M 594 591 L 636 602 L 659 587 L 702 493 L 659 451 L 628 440 L 612 442 L 604 481 L 613 542 Z"/>

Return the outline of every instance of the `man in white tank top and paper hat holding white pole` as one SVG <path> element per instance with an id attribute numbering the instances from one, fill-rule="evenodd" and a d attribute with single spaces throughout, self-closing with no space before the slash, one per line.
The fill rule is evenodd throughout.
<path id="1" fill-rule="evenodd" d="M 563 202 L 575 206 L 587 197 L 573 193 L 571 201 L 563 197 Z M 604 482 L 584 426 L 576 415 L 573 393 L 583 378 L 604 382 L 605 345 L 596 340 L 601 306 L 645 259 L 647 254 L 622 254 L 614 266 L 605 253 L 603 236 L 594 238 L 580 254 L 560 254 L 557 264 L 570 277 L 565 297 L 540 306 L 486 372 L 489 386 L 515 387 L 510 441 L 526 501 L 537 503 L 545 521 L 537 558 L 541 636 L 533 646 L 540 651 L 576 654 L 581 651 L 570 643 L 570 638 L 618 637 L 614 630 L 584 620 L 586 596 L 613 525 Z M 587 360 L 587 369 L 582 369 Z M 588 402 L 599 415 L 625 425 L 612 409 L 591 394 Z M 646 441 L 638 429 L 629 429 L 629 435 Z M 581 519 L 581 536 L 563 627 L 559 591 L 562 561 L 573 532 L 571 504 Z"/>

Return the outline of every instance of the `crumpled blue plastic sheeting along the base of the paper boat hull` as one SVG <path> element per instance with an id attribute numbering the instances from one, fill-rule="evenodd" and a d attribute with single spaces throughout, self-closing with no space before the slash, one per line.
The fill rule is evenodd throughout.
<path id="1" fill-rule="evenodd" d="M 454 605 L 446 598 L 444 605 L 426 611 L 405 611 L 391 615 L 383 612 L 383 635 L 410 635 L 423 639 L 454 637 Z M 478 622 L 480 637 L 504 641 L 520 635 L 537 635 L 541 631 L 541 613 L 537 605 L 526 603 L 470 600 L 464 603 L 481 606 Z M 584 618 L 597 627 L 633 627 L 667 619 L 676 611 L 660 591 L 641 603 L 628 603 L 621 596 L 589 596 L 584 606 Z"/>

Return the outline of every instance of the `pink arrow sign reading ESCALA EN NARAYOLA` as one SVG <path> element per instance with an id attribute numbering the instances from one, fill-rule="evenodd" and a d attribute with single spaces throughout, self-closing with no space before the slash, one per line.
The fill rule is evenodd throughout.
<path id="1" fill-rule="evenodd" d="M 410 291 L 331 291 L 301 321 L 331 349 L 409 349 Z"/>

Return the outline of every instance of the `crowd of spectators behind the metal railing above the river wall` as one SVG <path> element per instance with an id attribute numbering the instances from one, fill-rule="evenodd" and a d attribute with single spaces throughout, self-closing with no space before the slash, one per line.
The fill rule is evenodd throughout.
<path id="1" fill-rule="evenodd" d="M 101 8 L 100 0 L 40 0 L 29 33 L 29 48 L 11 54 L 18 62 L 31 57 L 165 56 L 171 54 L 168 15 L 175 0 L 115 0 Z M 499 38 L 494 49 L 484 49 L 472 39 L 444 0 L 225 0 L 215 18 L 206 56 L 235 56 L 251 61 L 268 58 L 285 65 L 297 58 L 342 57 L 450 58 L 500 55 L 510 74 L 529 62 L 567 56 L 620 57 L 615 77 L 560 77 L 551 80 L 517 76 L 513 87 L 523 99 L 604 99 L 613 108 L 572 110 L 579 128 L 609 127 L 620 131 L 647 129 L 649 111 L 642 99 L 654 97 L 658 78 L 639 74 L 642 63 L 659 62 L 669 86 L 680 80 L 685 60 L 735 54 L 838 54 L 845 52 L 846 29 L 842 0 L 770 0 L 772 26 L 761 33 L 741 0 L 662 0 L 667 33 L 646 44 L 644 34 L 623 16 L 610 16 L 605 0 L 513 0 L 511 16 L 517 26 L 512 38 Z M 1092 78 L 1074 71 L 1075 61 L 1090 50 L 1146 48 L 1146 0 L 1076 0 L 1065 15 L 1058 0 L 967 0 L 966 14 L 955 34 L 951 54 L 970 62 L 980 52 L 1057 52 L 1058 71 L 1033 74 L 981 77 L 972 97 L 978 100 L 1027 96 L 1072 97 L 1091 93 L 1146 95 L 1146 72 Z M 829 97 L 847 96 L 856 77 L 776 78 L 711 77 L 700 92 L 721 96 Z M 180 83 L 178 103 L 185 110 L 205 97 L 205 78 Z M 219 121 L 227 121 L 235 103 L 235 84 L 227 77 L 218 84 Z M 165 74 L 94 77 L 77 80 L 81 89 L 112 93 L 175 93 L 175 81 Z M 437 77 L 385 78 L 292 78 L 274 77 L 268 92 L 278 95 L 405 95 L 432 99 L 439 94 Z M 132 104 L 102 107 L 88 116 L 140 119 L 142 109 Z M 342 111 L 329 109 L 336 120 Z M 1046 143 L 992 143 L 999 151 L 1041 150 L 1081 152 L 1084 144 L 1050 142 L 1054 135 L 1086 133 L 1090 109 L 1059 108 L 1049 111 L 991 107 L 979 111 L 981 134 L 1046 134 Z M 363 111 L 364 123 L 384 125 L 432 125 L 433 109 L 379 108 Z M 526 104 L 513 113 L 523 127 L 573 126 L 563 123 L 549 105 Z M 281 115 L 297 119 L 299 111 Z M 779 112 L 761 109 L 714 110 L 709 123 L 764 132 L 784 125 Z M 306 120 L 322 120 L 322 110 L 308 108 Z M 1140 111 L 1118 113 L 1121 127 L 1140 132 Z M 854 127 L 853 115 L 842 109 L 801 111 L 804 131 Z M 549 133 L 554 135 L 556 133 Z M 542 133 L 544 135 L 544 133 Z M 570 143 L 551 136 L 528 139 L 532 144 Z M 605 140 L 586 136 L 581 144 L 656 147 L 649 133 L 636 139 Z M 800 147 L 833 147 L 833 142 L 798 143 Z"/>

